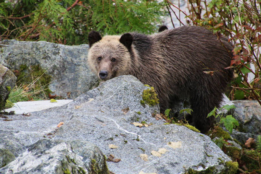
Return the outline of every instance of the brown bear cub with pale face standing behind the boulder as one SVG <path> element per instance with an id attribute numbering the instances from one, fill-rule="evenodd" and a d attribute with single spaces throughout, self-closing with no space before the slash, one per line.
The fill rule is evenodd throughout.
<path id="1" fill-rule="evenodd" d="M 161 113 L 189 96 L 193 110 L 189 123 L 201 132 L 213 125 L 214 117 L 206 116 L 220 106 L 233 78 L 233 71 L 225 69 L 232 51 L 227 38 L 218 40 L 203 27 L 182 26 L 153 35 L 133 32 L 101 37 L 91 31 L 88 39 L 88 63 L 100 79 L 137 77 L 155 88 Z"/>

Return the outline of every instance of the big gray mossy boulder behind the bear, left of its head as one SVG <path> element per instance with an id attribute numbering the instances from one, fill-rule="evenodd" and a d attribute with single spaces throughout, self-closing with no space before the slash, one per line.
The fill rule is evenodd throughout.
<path id="1" fill-rule="evenodd" d="M 75 99 L 99 83 L 87 64 L 87 44 L 66 46 L 45 41 L 0 42 L 0 64 L 12 70 L 39 65 L 51 75 L 52 95 Z"/>

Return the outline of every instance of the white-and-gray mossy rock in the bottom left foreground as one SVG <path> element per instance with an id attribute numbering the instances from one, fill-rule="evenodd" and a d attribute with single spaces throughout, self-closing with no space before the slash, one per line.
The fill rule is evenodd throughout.
<path id="1" fill-rule="evenodd" d="M 82 174 L 94 170 L 108 173 L 104 155 L 97 146 L 86 141 L 42 139 L 1 168 L 0 173 Z"/>

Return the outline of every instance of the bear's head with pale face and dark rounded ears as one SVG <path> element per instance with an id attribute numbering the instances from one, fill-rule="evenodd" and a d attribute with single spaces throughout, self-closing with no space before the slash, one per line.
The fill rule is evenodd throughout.
<path id="1" fill-rule="evenodd" d="M 98 32 L 91 31 L 88 40 L 88 64 L 100 79 L 129 74 L 133 41 L 130 33 L 101 37 Z"/>

